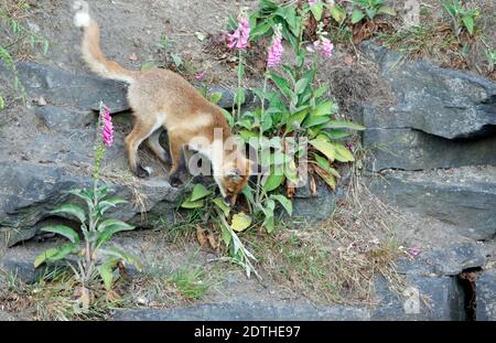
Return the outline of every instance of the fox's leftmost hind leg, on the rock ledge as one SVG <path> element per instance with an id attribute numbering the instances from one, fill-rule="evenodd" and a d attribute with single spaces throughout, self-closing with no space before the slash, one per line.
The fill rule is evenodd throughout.
<path id="1" fill-rule="evenodd" d="M 131 171 L 138 178 L 148 178 L 151 174 L 151 169 L 141 165 L 140 158 L 138 157 L 138 148 L 143 140 L 149 138 L 158 129 L 160 124 L 141 120 L 140 118 L 143 118 L 142 116 L 136 116 L 134 118 L 134 127 L 131 133 L 125 139 L 126 153 Z"/>

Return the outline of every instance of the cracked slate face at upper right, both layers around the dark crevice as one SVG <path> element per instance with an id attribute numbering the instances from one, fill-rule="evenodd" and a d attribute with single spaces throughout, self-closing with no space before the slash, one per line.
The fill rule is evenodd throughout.
<path id="1" fill-rule="evenodd" d="M 401 63 L 395 52 L 366 42 L 395 98 L 389 107 L 365 107 L 368 169 L 423 170 L 496 165 L 496 84 L 428 62 Z"/>

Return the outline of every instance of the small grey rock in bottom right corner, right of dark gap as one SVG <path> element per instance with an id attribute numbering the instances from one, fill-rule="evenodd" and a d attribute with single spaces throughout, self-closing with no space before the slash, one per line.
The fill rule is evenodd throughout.
<path id="1" fill-rule="evenodd" d="M 477 321 L 496 321 L 496 269 L 483 270 L 475 285 Z"/>

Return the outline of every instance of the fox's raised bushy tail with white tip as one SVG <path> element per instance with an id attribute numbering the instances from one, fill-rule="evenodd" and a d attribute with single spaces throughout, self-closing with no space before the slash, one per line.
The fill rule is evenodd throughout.
<path id="1" fill-rule="evenodd" d="M 83 6 L 85 4 L 85 6 Z M 74 24 L 83 28 L 84 36 L 82 42 L 83 58 L 90 69 L 105 78 L 132 83 L 137 72 L 128 71 L 115 61 L 107 60 L 100 49 L 100 28 L 98 23 L 89 17 L 87 4 L 84 1 L 76 1 L 74 8 L 77 10 L 74 15 Z"/>

